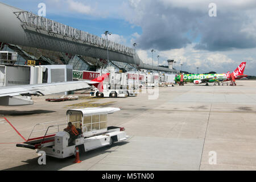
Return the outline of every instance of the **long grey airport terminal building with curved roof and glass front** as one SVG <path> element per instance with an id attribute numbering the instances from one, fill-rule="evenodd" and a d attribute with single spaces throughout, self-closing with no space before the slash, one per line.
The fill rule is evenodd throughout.
<path id="1" fill-rule="evenodd" d="M 106 42 L 89 32 L 3 3 L 0 3 L 0 24 L 0 51 L 18 53 L 17 65 L 35 60 L 36 65 L 69 64 L 80 71 L 112 66 L 123 72 L 145 69 L 176 73 L 175 69 L 144 64 L 134 48 Z"/>

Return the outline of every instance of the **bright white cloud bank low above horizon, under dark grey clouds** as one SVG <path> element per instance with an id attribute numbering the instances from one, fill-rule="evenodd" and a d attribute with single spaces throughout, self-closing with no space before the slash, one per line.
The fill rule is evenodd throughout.
<path id="1" fill-rule="evenodd" d="M 138 49 L 137 54 L 143 63 L 152 65 L 152 53 L 150 50 Z M 159 65 L 167 65 L 168 59 L 176 61 L 175 67 L 191 73 L 206 73 L 214 71 L 217 73 L 233 72 L 242 61 L 246 61 L 245 74 L 256 75 L 256 48 L 236 49 L 225 52 L 199 51 L 193 48 L 193 44 L 185 48 L 171 49 L 169 51 L 154 52 L 154 65 L 158 65 L 157 55 L 159 55 Z"/>

